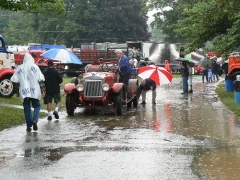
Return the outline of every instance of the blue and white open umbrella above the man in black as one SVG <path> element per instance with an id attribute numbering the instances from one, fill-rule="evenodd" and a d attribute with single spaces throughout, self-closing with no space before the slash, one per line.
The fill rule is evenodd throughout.
<path id="1" fill-rule="evenodd" d="M 81 60 L 72 52 L 65 49 L 50 49 L 41 54 L 45 58 L 51 58 L 61 63 L 82 64 Z"/>

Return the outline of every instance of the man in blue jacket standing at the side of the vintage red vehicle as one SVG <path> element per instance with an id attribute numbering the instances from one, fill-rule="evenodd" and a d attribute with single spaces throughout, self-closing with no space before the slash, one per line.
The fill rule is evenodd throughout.
<path id="1" fill-rule="evenodd" d="M 119 58 L 119 62 L 118 62 L 119 73 L 120 73 L 122 82 L 125 86 L 126 97 L 130 99 L 131 95 L 128 93 L 128 81 L 131 76 L 132 68 L 130 66 L 128 57 L 125 56 L 121 50 L 116 50 L 115 53 Z"/>

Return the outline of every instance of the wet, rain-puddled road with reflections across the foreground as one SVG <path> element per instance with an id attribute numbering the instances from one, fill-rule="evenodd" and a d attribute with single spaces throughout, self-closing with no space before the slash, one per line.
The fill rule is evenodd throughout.
<path id="1" fill-rule="evenodd" d="M 237 180 L 240 124 L 218 99 L 217 83 L 195 77 L 157 88 L 157 104 L 113 110 L 77 109 L 60 121 L 40 119 L 0 132 L 0 180 Z M 141 99 L 140 99 L 141 102 Z"/>

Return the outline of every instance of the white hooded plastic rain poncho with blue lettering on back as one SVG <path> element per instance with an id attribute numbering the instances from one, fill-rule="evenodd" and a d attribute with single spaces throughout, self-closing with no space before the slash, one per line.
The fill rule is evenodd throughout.
<path id="1" fill-rule="evenodd" d="M 26 53 L 23 64 L 18 66 L 11 77 L 11 81 L 19 83 L 19 95 L 23 101 L 25 97 L 41 99 L 39 82 L 44 81 L 44 76 L 39 67 L 34 64 L 33 57 Z"/>

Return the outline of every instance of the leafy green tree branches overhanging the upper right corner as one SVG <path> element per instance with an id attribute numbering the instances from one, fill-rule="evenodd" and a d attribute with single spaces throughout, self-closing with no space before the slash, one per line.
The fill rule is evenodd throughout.
<path id="1" fill-rule="evenodd" d="M 240 4 L 238 0 L 146 0 L 149 10 L 159 8 L 153 23 L 169 41 L 189 43 L 189 51 L 213 43 L 212 51 L 229 54 L 239 50 Z M 169 6 L 171 10 L 164 10 Z"/>

